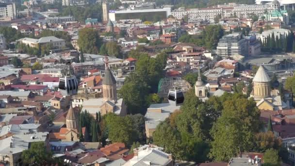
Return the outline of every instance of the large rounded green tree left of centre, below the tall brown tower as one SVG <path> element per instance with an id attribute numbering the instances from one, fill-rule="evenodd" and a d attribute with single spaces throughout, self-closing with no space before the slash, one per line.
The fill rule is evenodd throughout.
<path id="1" fill-rule="evenodd" d="M 79 31 L 78 46 L 86 53 L 98 54 L 101 43 L 102 41 L 97 30 L 92 28 L 83 28 Z"/>

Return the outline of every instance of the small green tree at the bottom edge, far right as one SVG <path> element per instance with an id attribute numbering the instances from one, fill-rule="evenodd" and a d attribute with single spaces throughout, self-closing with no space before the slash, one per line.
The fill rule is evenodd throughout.
<path id="1" fill-rule="evenodd" d="M 267 149 L 263 155 L 263 160 L 266 166 L 280 166 L 279 150 Z"/>

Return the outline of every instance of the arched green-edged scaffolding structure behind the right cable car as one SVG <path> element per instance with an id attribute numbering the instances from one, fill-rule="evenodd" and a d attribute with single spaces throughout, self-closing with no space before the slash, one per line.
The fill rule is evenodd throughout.
<path id="1" fill-rule="evenodd" d="M 182 78 L 163 78 L 158 84 L 158 95 L 167 97 L 170 89 L 181 89 L 183 93 L 187 92 L 191 87 L 190 83 Z"/>

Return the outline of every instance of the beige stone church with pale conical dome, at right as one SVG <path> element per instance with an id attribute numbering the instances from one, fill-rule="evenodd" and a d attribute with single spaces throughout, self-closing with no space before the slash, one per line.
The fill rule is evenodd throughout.
<path id="1" fill-rule="evenodd" d="M 271 89 L 271 79 L 261 65 L 253 78 L 253 91 L 250 97 L 256 101 L 260 110 L 278 111 L 290 109 L 279 95 L 279 90 Z"/>

